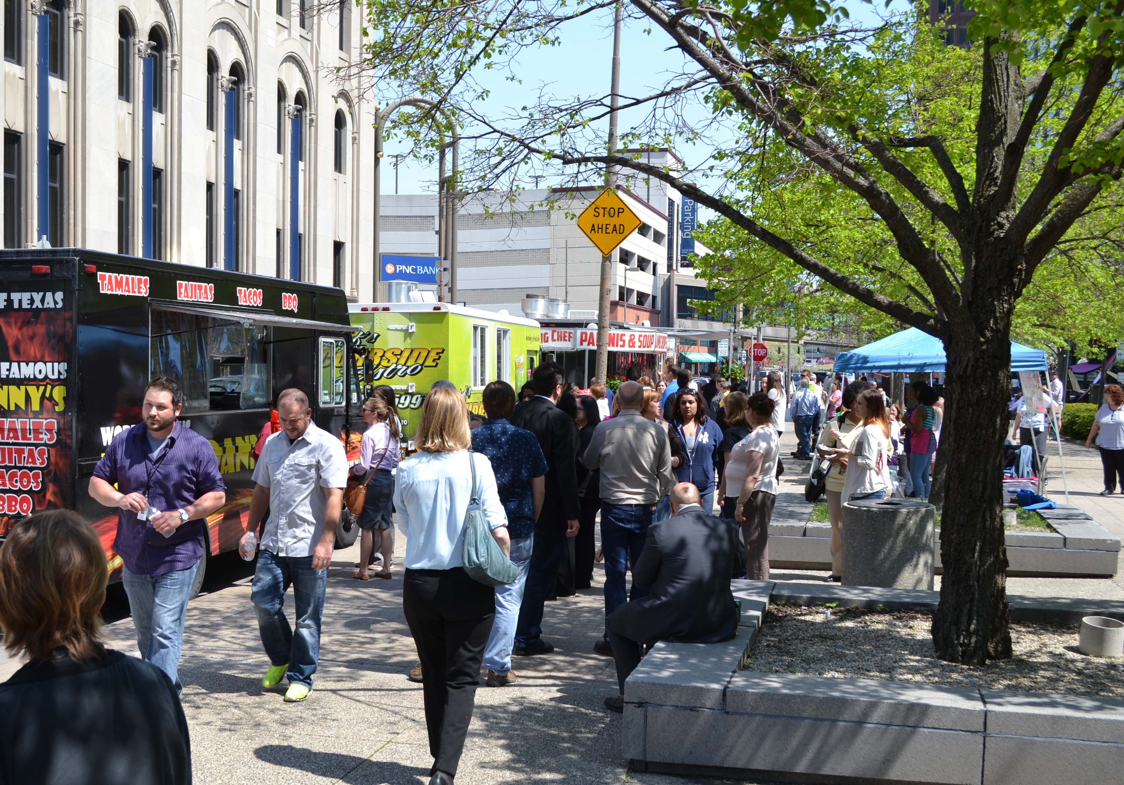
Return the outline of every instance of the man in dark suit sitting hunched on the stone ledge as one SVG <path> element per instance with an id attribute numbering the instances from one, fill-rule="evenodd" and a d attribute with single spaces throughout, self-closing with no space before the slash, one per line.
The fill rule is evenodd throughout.
<path id="1" fill-rule="evenodd" d="M 717 643 L 737 632 L 737 608 L 729 576 L 741 543 L 737 524 L 703 511 L 698 488 L 671 489 L 673 515 L 647 530 L 633 585 L 650 588 L 609 614 L 606 626 L 617 664 L 620 694 L 605 698 L 624 711 L 625 679 L 641 660 L 641 647 L 656 641 Z"/>

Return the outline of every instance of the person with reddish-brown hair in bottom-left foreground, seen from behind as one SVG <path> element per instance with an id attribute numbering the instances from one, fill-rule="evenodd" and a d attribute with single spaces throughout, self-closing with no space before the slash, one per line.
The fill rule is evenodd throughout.
<path id="1" fill-rule="evenodd" d="M 0 685 L 0 782 L 191 782 L 188 722 L 156 666 L 107 649 L 106 552 L 69 509 L 16 523 L 0 548 L 0 629 L 27 664 Z"/>

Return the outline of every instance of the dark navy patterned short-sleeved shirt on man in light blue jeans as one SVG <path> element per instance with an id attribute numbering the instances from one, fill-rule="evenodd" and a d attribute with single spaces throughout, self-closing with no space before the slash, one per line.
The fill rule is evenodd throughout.
<path id="1" fill-rule="evenodd" d="M 499 500 L 507 513 L 508 536 L 513 540 L 531 536 L 535 531 L 531 480 L 550 469 L 535 434 L 497 417 L 473 428 L 472 449 L 491 461 Z"/>

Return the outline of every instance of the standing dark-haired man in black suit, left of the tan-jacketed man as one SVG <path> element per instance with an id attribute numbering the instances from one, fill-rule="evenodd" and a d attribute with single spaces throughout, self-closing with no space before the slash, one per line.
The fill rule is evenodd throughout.
<path id="1" fill-rule="evenodd" d="M 535 522 L 527 585 L 523 592 L 515 649 L 519 657 L 549 655 L 554 647 L 542 639 L 543 604 L 554 589 L 566 538 L 578 533 L 581 506 L 578 498 L 578 428 L 558 406 L 564 380 L 562 367 L 544 362 L 532 379 L 535 397 L 516 407 L 511 424 L 531 431 L 546 457 L 546 495 Z"/>

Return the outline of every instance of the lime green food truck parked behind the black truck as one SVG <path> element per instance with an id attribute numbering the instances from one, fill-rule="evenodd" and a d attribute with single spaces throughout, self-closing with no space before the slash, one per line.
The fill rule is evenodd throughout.
<path id="1" fill-rule="evenodd" d="M 375 303 L 348 306 L 364 397 L 389 385 L 398 397 L 404 443 L 414 450 L 422 403 L 435 381 L 464 393 L 469 409 L 483 414 L 481 393 L 502 379 L 518 393 L 538 364 L 538 323 L 448 303 Z"/>

